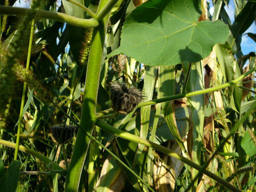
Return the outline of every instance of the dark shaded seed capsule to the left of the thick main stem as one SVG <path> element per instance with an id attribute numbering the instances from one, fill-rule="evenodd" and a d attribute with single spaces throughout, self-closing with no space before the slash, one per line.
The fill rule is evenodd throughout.
<path id="1" fill-rule="evenodd" d="M 64 126 L 62 138 L 60 139 L 62 129 L 63 125 L 52 126 L 52 136 L 56 140 L 56 142 L 59 142 L 60 144 L 69 143 L 74 136 L 74 130 L 76 129 L 76 127 L 69 125 Z"/>

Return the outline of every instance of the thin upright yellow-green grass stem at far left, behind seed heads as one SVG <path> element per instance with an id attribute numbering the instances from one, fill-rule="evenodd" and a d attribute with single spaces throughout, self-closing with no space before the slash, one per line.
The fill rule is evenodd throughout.
<path id="1" fill-rule="evenodd" d="M 31 29 L 30 29 L 30 37 L 29 37 L 29 44 L 28 44 L 28 56 L 27 56 L 26 70 L 28 70 L 29 63 L 30 63 L 32 39 L 33 39 L 33 34 L 34 34 L 34 24 L 35 24 L 35 20 L 32 19 L 32 21 L 31 21 Z M 21 130 L 21 123 L 22 123 L 23 108 L 24 108 L 25 95 L 26 95 L 26 88 L 27 88 L 27 82 L 24 82 L 23 91 L 22 91 L 22 98 L 21 98 L 21 104 L 20 104 L 20 116 L 19 116 L 19 120 L 18 120 L 18 132 L 17 132 L 17 138 L 16 138 L 16 147 L 15 147 L 15 152 L 14 152 L 14 161 L 17 160 L 17 156 L 18 156 L 18 148 L 19 148 L 19 142 L 20 142 L 20 130 Z"/>

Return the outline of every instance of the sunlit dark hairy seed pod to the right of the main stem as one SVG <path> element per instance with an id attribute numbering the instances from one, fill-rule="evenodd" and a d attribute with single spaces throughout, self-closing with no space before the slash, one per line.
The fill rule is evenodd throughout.
<path id="1" fill-rule="evenodd" d="M 113 82 L 109 85 L 112 108 L 119 113 L 132 112 L 142 100 L 142 93 L 136 87 L 127 88 L 124 83 Z"/>

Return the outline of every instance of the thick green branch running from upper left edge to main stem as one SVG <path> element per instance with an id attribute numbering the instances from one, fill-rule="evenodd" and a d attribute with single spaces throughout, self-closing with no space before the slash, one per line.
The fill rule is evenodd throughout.
<path id="1" fill-rule="evenodd" d="M 82 27 L 82 28 L 94 28 L 99 25 L 99 22 L 95 19 L 81 19 L 74 16 L 70 16 L 60 12 L 45 11 L 45 10 L 31 10 L 27 8 L 18 8 L 10 6 L 0 6 L 0 13 L 7 15 L 23 15 L 26 16 L 29 12 L 35 12 L 36 18 L 53 19 L 60 22 L 66 22 L 68 24 Z"/>

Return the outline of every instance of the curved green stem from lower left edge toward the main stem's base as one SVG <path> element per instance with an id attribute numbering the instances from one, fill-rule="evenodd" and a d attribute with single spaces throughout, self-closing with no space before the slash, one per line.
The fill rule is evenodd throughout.
<path id="1" fill-rule="evenodd" d="M 4 146 L 7 146 L 7 147 L 15 148 L 16 144 L 13 143 L 13 142 L 9 142 L 9 141 L 0 139 L 0 145 L 4 145 Z M 40 153 L 30 149 L 30 148 L 27 148 L 27 147 L 24 147 L 22 145 L 19 145 L 19 150 L 23 151 L 25 153 L 28 153 L 28 154 L 30 154 L 32 156 L 35 156 L 36 158 L 40 159 L 41 161 L 45 162 L 46 164 L 52 163 L 54 170 L 64 170 L 63 168 L 58 166 L 56 163 L 52 162 L 52 160 L 48 159 L 46 156 L 44 156 L 44 155 L 42 155 L 42 154 L 40 154 Z M 62 174 L 62 175 L 65 175 L 65 174 Z"/>

